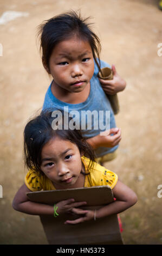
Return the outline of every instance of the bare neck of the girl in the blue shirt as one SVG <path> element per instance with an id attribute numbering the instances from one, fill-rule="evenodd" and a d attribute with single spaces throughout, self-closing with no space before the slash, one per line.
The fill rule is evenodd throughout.
<path id="1" fill-rule="evenodd" d="M 85 89 L 79 93 L 69 92 L 68 90 L 58 86 L 54 81 L 51 84 L 51 92 L 58 99 L 70 104 L 79 104 L 87 100 L 90 93 L 90 82 Z"/>

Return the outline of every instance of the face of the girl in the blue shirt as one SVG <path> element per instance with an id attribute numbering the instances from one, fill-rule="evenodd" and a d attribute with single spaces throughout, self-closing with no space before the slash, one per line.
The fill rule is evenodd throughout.
<path id="1" fill-rule="evenodd" d="M 89 42 L 74 36 L 59 42 L 50 56 L 49 72 L 54 86 L 68 92 L 82 92 L 94 74 L 94 60 Z"/>

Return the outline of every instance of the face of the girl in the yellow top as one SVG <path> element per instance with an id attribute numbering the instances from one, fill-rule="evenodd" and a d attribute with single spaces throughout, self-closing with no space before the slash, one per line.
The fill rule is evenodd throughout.
<path id="1" fill-rule="evenodd" d="M 44 145 L 41 156 L 41 170 L 56 189 L 83 187 L 83 164 L 77 145 L 56 137 Z"/>

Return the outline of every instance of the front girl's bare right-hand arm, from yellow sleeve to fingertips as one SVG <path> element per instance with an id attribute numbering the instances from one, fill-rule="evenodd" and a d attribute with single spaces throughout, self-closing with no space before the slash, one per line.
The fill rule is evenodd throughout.
<path id="1" fill-rule="evenodd" d="M 119 214 L 119 212 L 125 211 L 135 203 L 137 203 L 137 195 L 131 190 L 131 188 L 124 185 L 121 181 L 117 181 L 115 187 L 113 188 L 113 196 L 116 200 L 106 206 L 103 206 L 99 210 L 96 210 L 95 218 L 106 217 L 112 214 Z M 77 218 L 74 221 L 66 221 L 68 224 L 77 224 L 85 221 L 92 220 L 94 218 L 94 210 L 82 210 L 73 209 L 75 214 L 85 214 L 81 218 Z"/>

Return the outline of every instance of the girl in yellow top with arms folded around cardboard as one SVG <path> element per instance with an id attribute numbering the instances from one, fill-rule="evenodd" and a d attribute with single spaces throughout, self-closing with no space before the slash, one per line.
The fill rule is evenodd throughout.
<path id="1" fill-rule="evenodd" d="M 62 129 L 54 129 L 51 125 L 53 120 L 50 111 L 43 111 L 25 126 L 24 156 L 29 172 L 16 193 L 13 208 L 31 215 L 53 215 L 53 206 L 30 202 L 26 193 L 102 185 L 112 188 L 116 200 L 97 210 L 96 219 L 118 214 L 134 205 L 136 194 L 118 180 L 118 175 L 94 161 L 94 151 L 83 139 L 80 130 L 63 129 L 64 123 Z M 78 208 L 85 204 L 69 198 L 56 204 L 56 213 L 59 216 L 65 212 L 78 215 L 76 220 L 67 220 L 66 224 L 92 220 L 93 210 Z"/>

